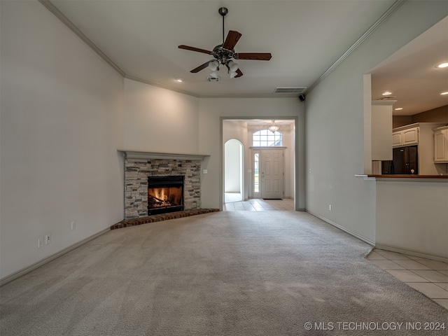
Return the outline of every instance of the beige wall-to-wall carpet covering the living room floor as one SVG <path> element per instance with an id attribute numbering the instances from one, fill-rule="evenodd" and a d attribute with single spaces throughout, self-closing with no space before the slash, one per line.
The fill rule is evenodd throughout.
<path id="1" fill-rule="evenodd" d="M 447 335 L 409 330 L 448 311 L 369 251 L 293 211 L 111 230 L 1 287 L 0 335 Z"/>

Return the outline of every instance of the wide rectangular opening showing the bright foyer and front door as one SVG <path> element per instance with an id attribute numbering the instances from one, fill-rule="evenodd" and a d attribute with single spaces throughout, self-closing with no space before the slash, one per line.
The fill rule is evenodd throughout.
<path id="1" fill-rule="evenodd" d="M 226 204 L 230 196 L 234 204 L 245 205 L 251 199 L 293 200 L 294 207 L 300 211 L 297 194 L 299 193 L 300 173 L 303 171 L 297 157 L 299 134 L 297 134 L 297 117 L 275 118 L 278 129 L 272 131 L 269 126 L 274 118 L 223 118 L 221 117 L 222 161 L 221 161 L 221 202 Z M 300 128 L 302 130 L 302 128 Z M 267 134 L 265 134 L 267 132 Z M 302 137 L 302 133 L 300 133 Z M 272 138 L 272 139 L 271 139 Z M 255 140 L 254 140 L 255 139 Z M 229 157 L 233 144 L 243 148 L 234 151 Z M 237 141 L 237 142 L 235 142 Z M 255 142 L 254 142 L 255 141 Z M 272 145 L 274 144 L 274 145 Z M 238 148 L 238 147 L 237 147 Z M 258 160 L 257 160 L 258 159 Z M 240 174 L 229 174 L 230 167 Z M 263 163 L 264 162 L 264 163 Z M 242 165 L 241 165 L 242 163 Z M 297 170 L 299 169 L 299 170 Z M 274 176 L 274 174 L 278 174 Z M 297 176 L 297 174 L 299 174 Z M 234 179 L 234 181 L 230 180 Z M 230 188 L 232 187 L 232 188 Z M 302 184 L 304 188 L 304 184 Z M 241 196 L 239 195 L 239 192 Z M 264 191 L 264 193 L 262 193 Z M 235 194 L 234 194 L 235 193 Z M 267 193 L 267 195 L 265 194 Z M 240 199 L 241 197 L 241 199 Z M 236 206 L 235 206 L 236 207 Z M 227 208 L 225 206 L 225 208 Z"/>

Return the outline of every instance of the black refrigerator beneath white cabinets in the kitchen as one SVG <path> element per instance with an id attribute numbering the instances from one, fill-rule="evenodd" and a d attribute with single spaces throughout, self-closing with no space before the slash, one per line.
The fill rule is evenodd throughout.
<path id="1" fill-rule="evenodd" d="M 393 148 L 393 160 L 381 162 L 382 174 L 419 174 L 418 146 Z"/>

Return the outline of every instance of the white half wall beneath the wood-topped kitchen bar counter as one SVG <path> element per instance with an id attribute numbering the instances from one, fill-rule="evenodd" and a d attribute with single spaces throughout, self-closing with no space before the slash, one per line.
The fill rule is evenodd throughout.
<path id="1" fill-rule="evenodd" d="M 377 245 L 446 261 L 447 204 L 447 180 L 377 181 Z"/>

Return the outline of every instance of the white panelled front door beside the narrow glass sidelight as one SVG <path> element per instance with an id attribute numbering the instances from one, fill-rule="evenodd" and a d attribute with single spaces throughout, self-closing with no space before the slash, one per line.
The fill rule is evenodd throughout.
<path id="1" fill-rule="evenodd" d="M 283 149 L 262 149 L 260 160 L 261 198 L 283 197 Z"/>

